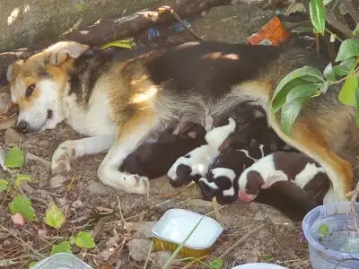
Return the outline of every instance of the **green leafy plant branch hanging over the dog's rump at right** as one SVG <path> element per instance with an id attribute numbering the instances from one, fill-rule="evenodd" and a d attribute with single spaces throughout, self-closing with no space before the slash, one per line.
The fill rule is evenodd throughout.
<path id="1" fill-rule="evenodd" d="M 310 14 L 313 31 L 324 34 L 326 21 L 326 4 L 330 0 L 311 0 Z M 356 26 L 354 33 L 359 30 Z M 356 108 L 355 122 L 359 126 L 359 39 L 341 40 L 337 35 L 330 33 L 330 41 L 336 39 L 342 44 L 338 50 L 336 62 L 338 65 L 329 64 L 323 73 L 311 66 L 303 66 L 293 70 L 278 83 L 271 100 L 271 108 L 274 114 L 280 111 L 281 127 L 285 134 L 290 133 L 295 119 L 302 108 L 311 98 L 325 94 L 330 85 L 343 83 L 338 94 L 338 100 L 347 106 Z"/>

